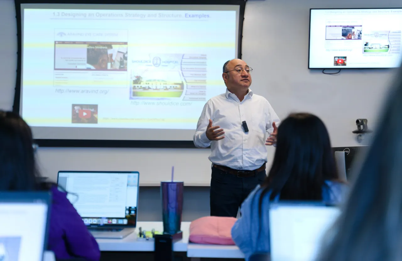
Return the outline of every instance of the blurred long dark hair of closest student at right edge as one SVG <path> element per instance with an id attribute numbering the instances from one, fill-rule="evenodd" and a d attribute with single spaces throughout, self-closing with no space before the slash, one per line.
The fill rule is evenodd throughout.
<path id="1" fill-rule="evenodd" d="M 402 260 L 402 67 L 381 129 L 353 175 L 349 198 L 322 242 L 322 261 Z"/>

